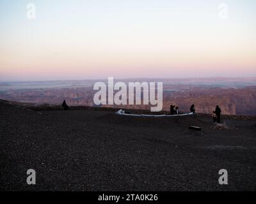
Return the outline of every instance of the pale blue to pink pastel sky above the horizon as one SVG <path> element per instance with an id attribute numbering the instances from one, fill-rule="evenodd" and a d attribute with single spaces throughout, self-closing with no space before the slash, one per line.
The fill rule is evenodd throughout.
<path id="1" fill-rule="evenodd" d="M 0 1 L 0 81 L 217 76 L 256 77 L 256 1 Z"/>

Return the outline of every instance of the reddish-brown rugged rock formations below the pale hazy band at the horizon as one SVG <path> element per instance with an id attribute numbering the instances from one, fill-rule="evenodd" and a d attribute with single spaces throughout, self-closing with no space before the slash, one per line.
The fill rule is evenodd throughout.
<path id="1" fill-rule="evenodd" d="M 0 98 L 23 103 L 60 105 L 66 99 L 70 106 L 95 106 L 92 87 L 24 89 L 0 91 Z M 179 106 L 180 112 L 189 112 L 195 104 L 196 112 L 212 113 L 216 105 L 227 115 L 256 115 L 256 87 L 239 89 L 221 87 L 200 87 L 191 85 L 165 85 L 163 92 L 163 110 L 170 110 L 170 104 Z M 148 105 L 104 105 L 149 110 Z"/>

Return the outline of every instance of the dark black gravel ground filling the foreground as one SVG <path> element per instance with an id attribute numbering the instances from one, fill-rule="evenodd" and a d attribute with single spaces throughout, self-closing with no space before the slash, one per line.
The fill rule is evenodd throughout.
<path id="1" fill-rule="evenodd" d="M 227 121 L 235 123 L 227 129 L 202 117 L 38 113 L 0 103 L 0 190 L 255 191 L 255 121 Z M 30 168 L 36 185 L 26 183 Z M 218 183 L 220 169 L 228 185 Z"/>

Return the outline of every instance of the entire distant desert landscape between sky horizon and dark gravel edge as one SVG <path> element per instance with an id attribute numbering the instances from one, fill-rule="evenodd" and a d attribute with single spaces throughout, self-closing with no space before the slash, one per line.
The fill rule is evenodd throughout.
<path id="1" fill-rule="evenodd" d="M 29 105 L 60 105 L 65 99 L 71 106 L 96 106 L 93 84 L 103 80 L 59 80 L 46 82 L 0 82 L 0 99 Z M 212 113 L 216 105 L 226 115 L 256 115 L 256 77 L 250 78 L 127 78 L 115 82 L 163 82 L 163 110 L 170 104 L 180 112 Z M 148 105 L 102 105 L 113 108 L 149 110 Z"/>

